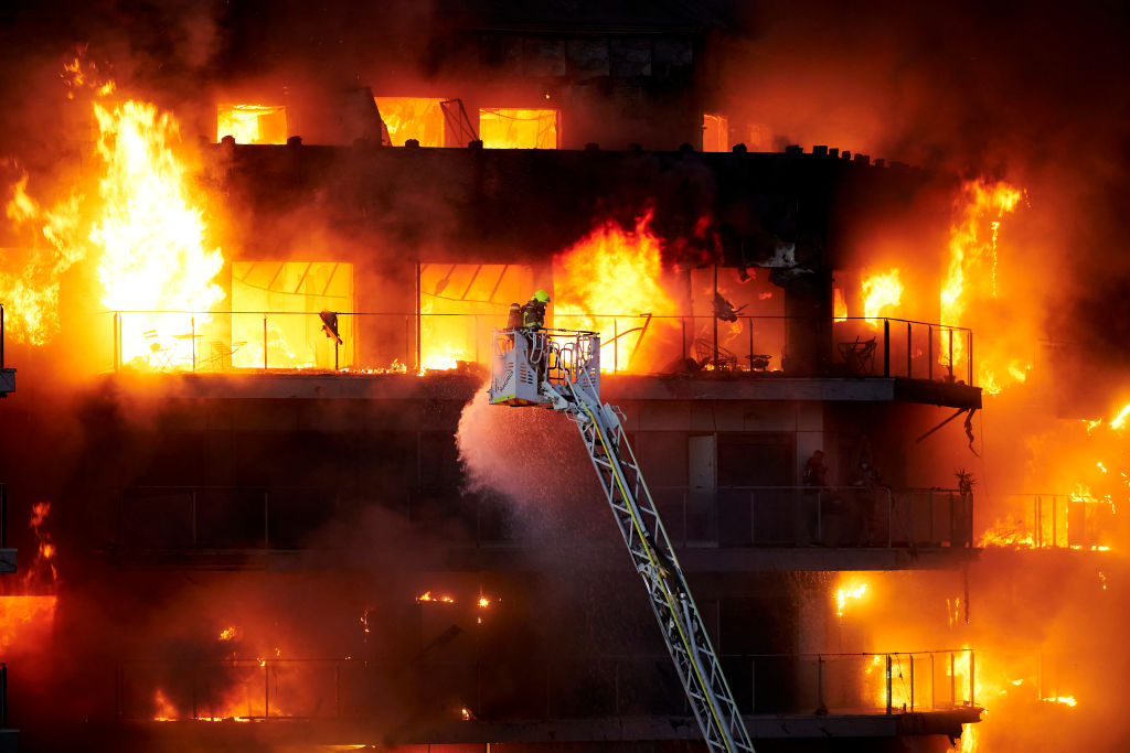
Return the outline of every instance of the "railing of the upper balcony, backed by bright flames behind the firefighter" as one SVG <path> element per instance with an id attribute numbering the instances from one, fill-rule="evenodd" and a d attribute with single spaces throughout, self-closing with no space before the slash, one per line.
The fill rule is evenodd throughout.
<path id="1" fill-rule="evenodd" d="M 114 370 L 159 371 L 419 371 L 486 364 L 494 327 L 488 314 L 337 313 L 337 343 L 316 312 L 114 312 L 107 361 Z M 553 325 L 598 330 L 606 370 L 767 374 L 791 368 L 794 327 L 817 323 L 785 316 L 651 314 L 558 315 Z M 965 327 L 894 318 L 825 322 L 828 352 L 815 360 L 825 376 L 906 377 L 973 384 L 973 333 Z M 805 338 L 801 338 L 803 340 Z M 815 342 L 815 340 L 814 340 Z M 954 359 L 949 356 L 954 354 Z"/>

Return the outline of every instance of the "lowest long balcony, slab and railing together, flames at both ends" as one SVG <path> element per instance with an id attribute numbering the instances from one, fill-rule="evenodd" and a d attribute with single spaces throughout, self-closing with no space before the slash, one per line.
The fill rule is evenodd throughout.
<path id="1" fill-rule="evenodd" d="M 971 649 L 720 659 L 755 739 L 957 736 L 982 711 Z M 393 677 L 381 663 L 360 658 L 175 667 L 124 662 L 105 698 L 113 699 L 106 712 L 125 723 L 174 729 L 194 721 L 281 723 L 288 730 L 306 723 L 323 743 L 357 743 L 385 729 L 372 703 L 386 697 L 416 707 L 399 743 L 695 739 L 697 726 L 669 663 L 664 655 L 462 656 L 418 663 Z"/>

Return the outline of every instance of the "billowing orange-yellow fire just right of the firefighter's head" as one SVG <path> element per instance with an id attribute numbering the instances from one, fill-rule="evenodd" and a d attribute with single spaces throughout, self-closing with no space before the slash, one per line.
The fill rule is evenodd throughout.
<path id="1" fill-rule="evenodd" d="M 649 210 L 636 219 L 631 233 L 615 221 L 605 222 L 554 256 L 554 321 L 565 329 L 600 332 L 601 367 L 606 370 L 637 366 L 634 356 L 642 344 L 642 330 L 612 343 L 620 331 L 640 326 L 635 315 L 678 314 L 677 304 L 660 283 L 662 244 L 651 231 L 651 219 Z M 608 315 L 633 318 L 631 324 L 617 323 Z"/>

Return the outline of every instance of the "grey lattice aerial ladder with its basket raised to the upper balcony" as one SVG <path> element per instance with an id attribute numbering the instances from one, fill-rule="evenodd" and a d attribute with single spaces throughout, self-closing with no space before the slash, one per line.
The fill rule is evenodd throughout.
<path id="1" fill-rule="evenodd" d="M 495 330 L 493 405 L 541 405 L 568 415 L 647 589 L 703 739 L 712 753 L 754 753 L 702 614 L 624 434 L 624 414 L 600 401 L 600 335 L 577 330 Z"/>

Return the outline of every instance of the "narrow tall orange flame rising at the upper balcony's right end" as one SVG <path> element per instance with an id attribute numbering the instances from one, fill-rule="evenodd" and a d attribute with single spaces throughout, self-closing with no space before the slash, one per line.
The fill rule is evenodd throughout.
<path id="1" fill-rule="evenodd" d="M 983 278 L 974 272 L 985 263 L 991 265 L 988 295 L 997 296 L 997 236 L 1000 221 L 1019 203 L 1023 192 L 1003 182 L 988 182 L 984 178 L 966 181 L 957 200 L 957 219 L 950 227 L 949 269 L 941 289 L 941 323 L 960 326 L 966 304 L 976 295 L 985 295 Z M 993 217 L 994 219 L 986 220 Z M 988 227 L 986 227 L 988 221 Z M 962 364 L 964 343 L 954 335 L 953 352 L 949 338 L 941 333 L 939 362 L 954 365 L 957 371 Z"/>

